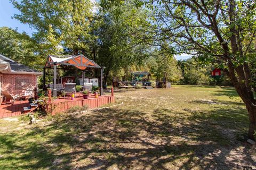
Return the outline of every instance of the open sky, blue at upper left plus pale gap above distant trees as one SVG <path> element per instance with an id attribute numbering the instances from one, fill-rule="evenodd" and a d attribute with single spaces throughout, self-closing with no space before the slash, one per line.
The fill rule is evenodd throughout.
<path id="1" fill-rule="evenodd" d="M 14 14 L 18 14 L 19 10 L 13 7 L 9 0 L 0 0 L 0 27 L 10 27 L 17 29 L 18 32 L 25 31 L 29 36 L 32 35 L 33 29 L 29 28 L 28 24 L 20 23 L 20 21 L 12 19 Z M 174 55 L 177 60 L 186 60 L 190 55 L 180 54 Z"/>

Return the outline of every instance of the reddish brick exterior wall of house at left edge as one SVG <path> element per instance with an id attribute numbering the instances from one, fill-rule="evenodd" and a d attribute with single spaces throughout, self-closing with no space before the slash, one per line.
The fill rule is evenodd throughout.
<path id="1" fill-rule="evenodd" d="M 2 91 L 8 91 L 11 95 L 21 95 L 26 89 L 37 88 L 37 75 L 31 74 L 0 74 L 2 75 Z M 22 82 L 26 80 L 26 86 Z M 33 94 L 34 95 L 34 94 Z"/>

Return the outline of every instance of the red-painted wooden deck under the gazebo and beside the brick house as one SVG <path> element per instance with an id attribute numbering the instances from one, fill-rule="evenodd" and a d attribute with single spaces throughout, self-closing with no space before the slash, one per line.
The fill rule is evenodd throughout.
<path id="1" fill-rule="evenodd" d="M 77 94 L 78 96 L 79 94 Z M 66 98 L 58 98 L 53 101 L 55 107 L 55 111 L 53 114 L 60 113 L 66 111 L 70 107 L 74 106 L 85 106 L 87 105 L 89 108 L 97 108 L 102 105 L 106 105 L 109 103 L 114 103 L 114 96 L 99 96 L 95 98 L 94 96 L 90 96 L 89 99 L 83 99 L 83 96 L 80 95 L 76 97 L 75 100 L 71 100 L 70 97 Z M 23 107 L 29 106 L 28 101 L 15 101 L 14 104 L 2 104 L 0 106 L 0 118 L 4 117 L 12 117 L 19 116 L 23 114 Z"/>

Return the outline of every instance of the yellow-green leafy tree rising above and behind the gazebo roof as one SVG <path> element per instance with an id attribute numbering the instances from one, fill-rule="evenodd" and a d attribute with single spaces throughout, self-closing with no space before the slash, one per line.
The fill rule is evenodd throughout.
<path id="1" fill-rule="evenodd" d="M 14 18 L 36 30 L 34 38 L 39 44 L 45 44 L 51 33 L 51 39 L 59 41 L 67 53 L 90 54 L 90 43 L 94 39 L 91 34 L 93 3 L 90 0 L 11 2 L 20 11 Z"/>

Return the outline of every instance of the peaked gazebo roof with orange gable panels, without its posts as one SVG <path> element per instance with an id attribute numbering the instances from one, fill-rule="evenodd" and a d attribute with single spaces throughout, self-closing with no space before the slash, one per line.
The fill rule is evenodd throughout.
<path id="1" fill-rule="evenodd" d="M 54 56 L 49 55 L 45 67 L 52 67 L 53 65 L 71 65 L 77 69 L 85 70 L 87 67 L 101 68 L 97 63 L 80 54 L 77 56 Z"/>

